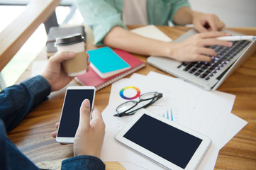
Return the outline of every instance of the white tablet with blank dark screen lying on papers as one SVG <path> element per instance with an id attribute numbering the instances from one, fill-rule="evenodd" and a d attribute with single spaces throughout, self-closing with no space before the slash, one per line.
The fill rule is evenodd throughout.
<path id="1" fill-rule="evenodd" d="M 211 139 L 141 109 L 116 134 L 116 140 L 167 169 L 196 169 Z"/>

